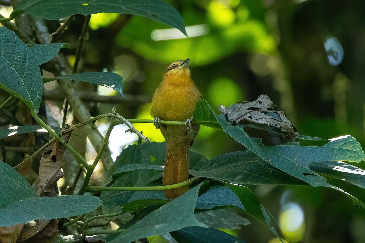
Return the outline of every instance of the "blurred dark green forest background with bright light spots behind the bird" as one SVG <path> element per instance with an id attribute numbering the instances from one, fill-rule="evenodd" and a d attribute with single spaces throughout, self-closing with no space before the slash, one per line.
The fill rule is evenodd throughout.
<path id="1" fill-rule="evenodd" d="M 80 70 L 117 72 L 123 77 L 127 95 L 119 103 L 89 102 L 92 115 L 107 113 L 116 106 L 123 117 L 151 118 L 149 102 L 166 67 L 174 60 L 190 58 L 192 78 L 217 112 L 219 104 L 253 101 L 268 94 L 300 134 L 321 138 L 350 134 L 365 144 L 364 1 L 169 2 L 183 16 L 188 38 L 140 16 L 92 15 Z M 72 46 L 61 50 L 70 66 L 83 22 L 84 16 L 76 16 L 59 39 Z M 48 25 L 51 32 L 59 26 L 57 21 Z M 57 86 L 47 83 L 46 93 L 59 91 Z M 80 90 L 119 95 L 90 84 L 80 85 Z M 62 99 L 54 97 L 46 97 L 52 111 L 48 118 L 59 126 Z M 106 130 L 107 121 L 97 125 Z M 164 141 L 152 124 L 135 126 L 151 141 Z M 137 141 L 134 134 L 124 134 L 124 130 L 119 125 L 112 132 L 114 158 L 123 147 Z M 81 132 L 79 135 L 82 137 Z M 243 149 L 223 132 L 206 127 L 201 127 L 192 146 L 209 159 Z M 361 163 L 357 166 L 364 168 Z M 365 242 L 364 209 L 339 192 L 290 186 L 252 189 L 280 224 L 288 242 Z M 364 201 L 364 196 L 348 189 Z M 245 242 L 278 242 L 254 220 L 231 233 Z"/>

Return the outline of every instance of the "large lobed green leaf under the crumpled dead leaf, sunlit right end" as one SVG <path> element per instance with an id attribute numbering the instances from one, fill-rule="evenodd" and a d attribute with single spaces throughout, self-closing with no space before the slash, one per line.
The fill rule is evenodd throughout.
<path id="1" fill-rule="evenodd" d="M 269 164 L 306 181 L 310 185 L 312 181 L 307 175 L 318 176 L 309 169 L 309 164 L 320 161 L 362 161 L 365 159 L 364 151 L 360 144 L 351 136 L 335 138 L 323 146 L 296 146 L 279 145 L 265 146 L 258 138 L 250 137 L 244 132 L 244 125 L 234 126 L 226 121 L 223 115 L 217 116 L 223 130 L 237 140 L 247 149 L 251 150 Z"/>

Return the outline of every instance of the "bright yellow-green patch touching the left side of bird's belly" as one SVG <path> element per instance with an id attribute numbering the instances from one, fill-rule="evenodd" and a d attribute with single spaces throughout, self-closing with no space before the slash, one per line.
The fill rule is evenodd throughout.
<path id="1" fill-rule="evenodd" d="M 151 103 L 141 105 L 137 111 L 137 119 L 153 119 L 151 114 Z M 162 136 L 159 129 L 156 129 L 152 123 L 134 123 L 133 126 L 142 131 L 143 135 L 151 140 L 151 142 L 164 142 L 165 138 Z"/>

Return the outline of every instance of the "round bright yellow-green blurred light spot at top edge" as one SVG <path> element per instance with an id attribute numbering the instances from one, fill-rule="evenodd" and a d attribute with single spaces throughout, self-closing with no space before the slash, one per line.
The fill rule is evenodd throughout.
<path id="1" fill-rule="evenodd" d="M 221 28 L 231 26 L 236 18 L 235 13 L 228 5 L 216 0 L 209 3 L 207 14 L 211 24 Z"/>

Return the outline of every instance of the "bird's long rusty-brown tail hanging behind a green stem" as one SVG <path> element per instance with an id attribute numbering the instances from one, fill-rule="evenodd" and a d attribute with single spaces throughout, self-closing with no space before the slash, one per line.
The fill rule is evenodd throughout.
<path id="1" fill-rule="evenodd" d="M 188 180 L 189 178 L 189 147 L 188 142 L 171 141 L 167 144 L 163 185 L 172 185 Z M 189 186 L 164 190 L 166 199 L 174 199 L 184 192 Z"/>

